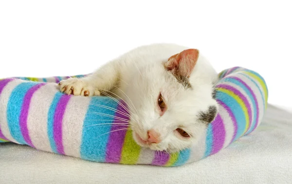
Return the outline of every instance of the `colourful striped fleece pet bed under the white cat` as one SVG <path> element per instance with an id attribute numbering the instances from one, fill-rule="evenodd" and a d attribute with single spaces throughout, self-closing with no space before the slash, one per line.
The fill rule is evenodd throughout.
<path id="1" fill-rule="evenodd" d="M 75 77 L 83 77 L 75 76 Z M 68 96 L 58 83 L 68 77 L 0 81 L 0 141 L 95 162 L 180 166 L 201 160 L 253 132 L 264 115 L 268 89 L 256 72 L 233 67 L 219 73 L 219 114 L 189 149 L 168 154 L 132 139 L 126 104 L 108 97 Z"/>

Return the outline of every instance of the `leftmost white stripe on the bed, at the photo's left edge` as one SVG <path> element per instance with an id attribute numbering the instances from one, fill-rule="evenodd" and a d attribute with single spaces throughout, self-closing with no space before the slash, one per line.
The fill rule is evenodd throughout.
<path id="1" fill-rule="evenodd" d="M 27 83 L 28 81 L 22 81 L 22 80 L 14 80 L 8 83 L 0 96 L 0 124 L 1 124 L 1 131 L 2 134 L 10 141 L 18 143 L 10 134 L 10 130 L 8 127 L 8 122 L 7 122 L 7 104 L 9 101 L 9 97 L 18 84 L 21 83 Z M 18 143 L 19 144 L 19 143 Z"/>

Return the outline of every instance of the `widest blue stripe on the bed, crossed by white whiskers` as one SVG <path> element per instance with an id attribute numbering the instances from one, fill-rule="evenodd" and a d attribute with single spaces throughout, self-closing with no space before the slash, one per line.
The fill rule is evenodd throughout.
<path id="1" fill-rule="evenodd" d="M 100 123 L 112 123 L 113 117 L 107 117 L 94 112 L 103 113 L 114 116 L 115 112 L 103 107 L 94 106 L 92 104 L 106 105 L 108 107 L 117 108 L 117 102 L 108 97 L 92 97 L 88 112 L 85 116 L 82 143 L 80 155 L 82 159 L 105 162 L 107 143 L 110 136 L 111 126 L 98 125 Z M 92 113 L 93 112 L 93 113 Z M 104 120 L 104 121 L 100 121 Z M 94 125 L 94 126 L 91 126 Z"/>

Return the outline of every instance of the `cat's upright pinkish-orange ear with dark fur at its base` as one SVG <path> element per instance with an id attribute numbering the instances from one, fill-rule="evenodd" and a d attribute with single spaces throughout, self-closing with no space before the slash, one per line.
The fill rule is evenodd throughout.
<path id="1" fill-rule="evenodd" d="M 188 49 L 168 58 L 164 63 L 166 70 L 174 75 L 190 77 L 199 57 L 199 50 Z"/>

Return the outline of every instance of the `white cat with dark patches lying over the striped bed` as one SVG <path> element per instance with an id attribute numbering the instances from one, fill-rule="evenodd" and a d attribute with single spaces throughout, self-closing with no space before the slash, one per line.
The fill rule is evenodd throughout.
<path id="1" fill-rule="evenodd" d="M 133 138 L 142 147 L 175 152 L 204 133 L 217 115 L 215 69 L 199 53 L 175 44 L 136 48 L 84 78 L 60 82 L 62 92 L 107 93 L 128 103 Z"/>

